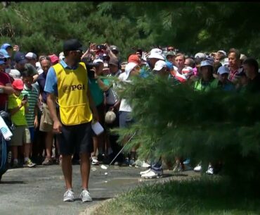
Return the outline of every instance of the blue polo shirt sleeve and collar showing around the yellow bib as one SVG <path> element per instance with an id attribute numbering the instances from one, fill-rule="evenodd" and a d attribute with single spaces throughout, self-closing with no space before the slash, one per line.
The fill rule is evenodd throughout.
<path id="1" fill-rule="evenodd" d="M 67 68 L 70 70 L 77 69 L 77 66 L 73 66 L 71 68 L 70 66 L 67 65 L 67 63 L 65 63 L 65 61 L 60 61 L 60 64 L 61 66 L 63 66 L 63 68 Z M 58 96 L 57 76 L 53 67 L 48 69 L 44 91 L 47 92 L 47 94 L 53 93 L 56 96 Z"/>

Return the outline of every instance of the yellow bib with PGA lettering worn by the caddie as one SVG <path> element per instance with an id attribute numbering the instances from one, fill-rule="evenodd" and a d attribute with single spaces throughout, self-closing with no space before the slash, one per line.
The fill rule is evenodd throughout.
<path id="1" fill-rule="evenodd" d="M 63 68 L 60 63 L 53 68 L 57 76 L 61 122 L 64 125 L 89 123 L 92 113 L 87 97 L 88 76 L 85 64 L 79 63 L 75 70 Z"/>

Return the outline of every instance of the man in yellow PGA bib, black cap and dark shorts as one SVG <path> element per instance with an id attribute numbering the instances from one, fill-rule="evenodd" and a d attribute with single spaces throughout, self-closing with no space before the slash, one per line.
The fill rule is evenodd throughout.
<path id="1" fill-rule="evenodd" d="M 67 190 L 64 202 L 74 201 L 72 190 L 72 155 L 79 154 L 82 175 L 82 202 L 91 202 L 89 193 L 90 156 L 93 152 L 92 121 L 98 111 L 89 92 L 89 80 L 82 61 L 82 44 L 68 39 L 63 44 L 64 60 L 48 69 L 44 91 L 57 134 L 62 169 Z M 58 109 L 57 105 L 58 104 Z M 59 113 L 59 114 L 58 114 Z"/>

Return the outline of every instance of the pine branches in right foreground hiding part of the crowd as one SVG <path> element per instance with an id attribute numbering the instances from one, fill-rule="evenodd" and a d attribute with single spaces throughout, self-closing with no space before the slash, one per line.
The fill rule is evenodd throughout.
<path id="1" fill-rule="evenodd" d="M 121 96 L 129 99 L 136 123 L 119 133 L 138 130 L 129 149 L 140 144 L 143 157 L 222 161 L 222 173 L 237 181 L 260 179 L 259 94 L 195 92 L 154 75 L 125 87 Z"/>

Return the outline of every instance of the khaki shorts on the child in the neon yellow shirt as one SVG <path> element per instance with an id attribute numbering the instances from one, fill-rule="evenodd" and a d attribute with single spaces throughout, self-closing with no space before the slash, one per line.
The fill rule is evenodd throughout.
<path id="1" fill-rule="evenodd" d="M 13 130 L 13 137 L 11 137 L 11 146 L 22 146 L 22 144 L 31 143 L 30 130 L 27 125 L 17 125 Z"/>

